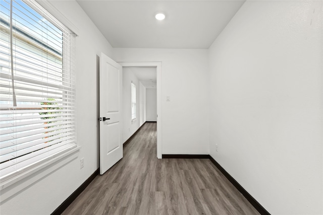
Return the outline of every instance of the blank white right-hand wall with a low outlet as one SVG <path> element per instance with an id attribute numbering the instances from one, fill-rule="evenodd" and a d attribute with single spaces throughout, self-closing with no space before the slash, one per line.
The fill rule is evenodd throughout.
<path id="1" fill-rule="evenodd" d="M 322 57 L 321 1 L 247 1 L 209 49 L 210 155 L 271 214 L 323 213 Z"/>

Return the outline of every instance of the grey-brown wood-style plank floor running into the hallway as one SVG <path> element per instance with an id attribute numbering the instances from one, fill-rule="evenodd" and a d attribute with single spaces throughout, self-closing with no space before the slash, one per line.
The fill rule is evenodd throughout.
<path id="1" fill-rule="evenodd" d="M 156 123 L 147 122 L 62 214 L 259 213 L 210 160 L 157 159 Z"/>

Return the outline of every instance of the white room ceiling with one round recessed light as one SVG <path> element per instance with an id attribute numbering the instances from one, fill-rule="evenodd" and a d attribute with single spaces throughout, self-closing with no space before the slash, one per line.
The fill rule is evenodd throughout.
<path id="1" fill-rule="evenodd" d="M 209 48 L 245 0 L 77 2 L 115 48 Z"/>

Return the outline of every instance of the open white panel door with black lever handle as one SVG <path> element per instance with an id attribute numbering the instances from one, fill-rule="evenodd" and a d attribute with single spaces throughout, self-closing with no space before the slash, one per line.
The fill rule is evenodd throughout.
<path id="1" fill-rule="evenodd" d="M 100 56 L 100 174 L 123 157 L 122 144 L 122 66 Z"/>

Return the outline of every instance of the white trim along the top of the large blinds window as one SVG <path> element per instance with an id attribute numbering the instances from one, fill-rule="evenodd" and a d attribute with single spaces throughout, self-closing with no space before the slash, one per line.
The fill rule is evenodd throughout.
<path id="1" fill-rule="evenodd" d="M 35 0 L 41 7 L 43 7 L 49 14 L 59 20 L 63 25 L 65 25 L 70 31 L 72 31 L 76 36 L 79 36 L 79 29 L 68 20 L 55 6 L 53 6 L 49 1 Z"/>

